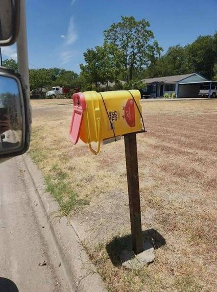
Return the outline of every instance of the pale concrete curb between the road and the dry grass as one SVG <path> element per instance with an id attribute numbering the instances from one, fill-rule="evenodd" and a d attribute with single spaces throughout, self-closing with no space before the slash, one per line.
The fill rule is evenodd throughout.
<path id="1" fill-rule="evenodd" d="M 101 276 L 97 273 L 95 266 L 90 262 L 87 253 L 82 248 L 78 230 L 75 230 L 70 225 L 66 217 L 51 219 L 53 212 L 59 210 L 59 205 L 48 192 L 45 192 L 44 179 L 37 165 L 27 154 L 22 155 L 22 160 L 44 209 L 47 224 L 50 226 L 55 248 L 64 266 L 65 276 L 71 291 L 107 291 Z"/>

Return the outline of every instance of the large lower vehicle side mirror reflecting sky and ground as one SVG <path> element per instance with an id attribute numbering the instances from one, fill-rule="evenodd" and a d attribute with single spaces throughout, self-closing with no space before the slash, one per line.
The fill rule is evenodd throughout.
<path id="1" fill-rule="evenodd" d="M 0 158 L 25 153 L 31 131 L 30 102 L 19 75 L 0 67 Z"/>

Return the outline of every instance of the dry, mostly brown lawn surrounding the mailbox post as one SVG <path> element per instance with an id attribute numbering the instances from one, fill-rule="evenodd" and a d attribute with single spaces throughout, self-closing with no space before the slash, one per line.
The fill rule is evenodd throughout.
<path id="1" fill-rule="evenodd" d="M 85 233 L 83 246 L 111 291 L 216 291 L 216 100 L 142 101 L 137 135 L 142 230 L 155 261 L 122 267 L 130 244 L 124 139 L 99 155 L 68 140 L 70 100 L 34 100 L 30 155 Z"/>

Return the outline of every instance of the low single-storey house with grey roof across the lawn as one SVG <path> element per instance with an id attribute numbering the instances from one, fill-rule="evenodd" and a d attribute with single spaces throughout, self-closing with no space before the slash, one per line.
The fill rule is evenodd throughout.
<path id="1" fill-rule="evenodd" d="M 141 80 L 146 86 L 143 92 L 151 98 L 160 98 L 165 93 L 176 93 L 177 98 L 193 98 L 199 96 L 201 85 L 210 85 L 212 81 L 199 73 L 148 78 Z"/>

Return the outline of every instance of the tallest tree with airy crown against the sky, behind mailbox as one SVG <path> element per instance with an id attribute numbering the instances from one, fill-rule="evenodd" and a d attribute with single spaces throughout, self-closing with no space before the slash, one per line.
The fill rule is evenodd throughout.
<path id="1" fill-rule="evenodd" d="M 135 69 L 150 65 L 162 48 L 153 41 L 154 34 L 148 28 L 147 20 L 135 20 L 133 16 L 124 17 L 104 31 L 105 40 L 114 44 L 123 54 L 123 67 L 127 82 L 133 79 Z"/>

